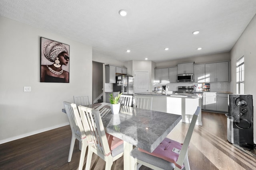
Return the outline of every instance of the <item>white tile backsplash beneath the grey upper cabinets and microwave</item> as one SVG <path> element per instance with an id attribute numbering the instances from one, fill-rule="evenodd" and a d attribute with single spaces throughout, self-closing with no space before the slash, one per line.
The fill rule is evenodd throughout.
<path id="1" fill-rule="evenodd" d="M 199 84 L 202 86 L 202 83 L 195 82 L 184 82 L 184 83 L 168 83 L 169 91 L 178 91 L 178 86 L 193 86 L 193 84 Z M 166 84 L 155 83 L 152 86 L 152 91 L 155 87 L 165 86 Z M 211 82 L 210 83 L 210 92 L 230 92 L 230 82 Z"/>

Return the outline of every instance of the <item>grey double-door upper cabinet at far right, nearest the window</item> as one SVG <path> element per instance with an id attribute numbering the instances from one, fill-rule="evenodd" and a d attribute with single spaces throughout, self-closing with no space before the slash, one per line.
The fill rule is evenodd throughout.
<path id="1" fill-rule="evenodd" d="M 205 64 L 205 82 L 228 82 L 228 62 Z"/>

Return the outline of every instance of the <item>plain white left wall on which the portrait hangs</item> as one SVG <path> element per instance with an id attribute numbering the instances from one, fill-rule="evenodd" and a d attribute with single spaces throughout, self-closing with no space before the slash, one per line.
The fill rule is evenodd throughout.
<path id="1" fill-rule="evenodd" d="M 40 37 L 70 45 L 70 83 L 40 82 Z M 68 125 L 73 95 L 92 100 L 92 47 L 0 16 L 0 52 L 0 143 Z"/>

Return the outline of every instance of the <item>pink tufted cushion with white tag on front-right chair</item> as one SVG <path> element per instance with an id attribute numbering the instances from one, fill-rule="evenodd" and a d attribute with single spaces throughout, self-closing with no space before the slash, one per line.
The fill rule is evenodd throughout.
<path id="1" fill-rule="evenodd" d="M 156 149 L 150 153 L 143 149 L 138 149 L 141 152 L 145 152 L 147 154 L 156 156 L 158 158 L 162 158 L 168 162 L 172 162 L 177 166 L 178 168 L 182 169 L 184 165 L 180 166 L 176 162 L 178 160 L 179 154 L 172 151 L 173 148 L 181 150 L 182 144 L 176 141 L 173 141 L 172 139 L 165 138 Z"/>

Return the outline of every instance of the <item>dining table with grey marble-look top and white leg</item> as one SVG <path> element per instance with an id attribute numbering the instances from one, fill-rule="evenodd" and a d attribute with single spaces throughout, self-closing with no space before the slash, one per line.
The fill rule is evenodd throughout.
<path id="1" fill-rule="evenodd" d="M 120 106 L 119 113 L 112 114 L 110 104 L 104 102 L 85 107 L 98 109 L 105 131 L 124 141 L 124 170 L 136 167 L 130 156 L 133 146 L 153 152 L 182 119 L 181 115 L 129 106 Z"/>

